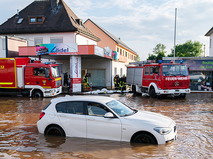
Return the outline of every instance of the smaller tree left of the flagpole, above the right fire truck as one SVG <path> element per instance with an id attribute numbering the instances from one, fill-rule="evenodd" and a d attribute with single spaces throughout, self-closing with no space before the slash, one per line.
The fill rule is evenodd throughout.
<path id="1" fill-rule="evenodd" d="M 153 54 L 149 54 L 149 57 L 147 60 L 155 60 L 158 62 L 158 60 L 162 60 L 163 57 L 165 57 L 165 51 L 166 46 L 164 44 L 157 44 L 155 48 L 153 48 Z"/>

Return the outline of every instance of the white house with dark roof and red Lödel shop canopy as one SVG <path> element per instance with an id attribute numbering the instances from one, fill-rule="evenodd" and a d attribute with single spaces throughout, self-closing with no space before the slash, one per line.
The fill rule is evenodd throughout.
<path id="1" fill-rule="evenodd" d="M 94 35 L 63 0 L 35 0 L 0 25 L 0 35 L 26 39 L 19 56 L 56 61 L 62 75 L 68 72 L 72 92 L 81 91 L 87 73 L 93 87 L 113 87 L 112 50 L 97 45 L 105 39 Z M 124 74 L 120 67 L 125 63 L 120 65 Z"/>

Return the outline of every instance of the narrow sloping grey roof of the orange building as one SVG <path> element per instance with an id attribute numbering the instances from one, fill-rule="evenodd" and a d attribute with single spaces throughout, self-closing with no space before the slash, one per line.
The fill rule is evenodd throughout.
<path id="1" fill-rule="evenodd" d="M 121 41 L 120 38 L 117 38 L 116 36 L 114 36 L 113 34 L 111 34 L 110 32 L 108 32 L 107 30 L 103 29 L 102 27 L 100 27 L 99 25 L 97 25 L 96 23 L 94 23 L 91 19 L 87 19 L 84 24 L 87 21 L 91 21 L 95 26 L 97 26 L 100 30 L 102 30 L 107 36 L 109 36 L 113 41 L 115 41 L 118 45 L 123 46 L 124 48 L 134 52 L 135 54 L 137 54 L 134 50 L 132 50 L 130 47 L 128 47 L 123 41 Z"/>

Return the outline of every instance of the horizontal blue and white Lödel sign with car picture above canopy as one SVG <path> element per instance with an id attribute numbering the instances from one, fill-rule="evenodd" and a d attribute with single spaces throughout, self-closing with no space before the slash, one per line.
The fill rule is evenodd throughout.
<path id="1" fill-rule="evenodd" d="M 70 52 L 78 52 L 77 43 L 57 43 L 57 44 L 39 44 L 36 45 L 36 54 L 69 54 Z"/>

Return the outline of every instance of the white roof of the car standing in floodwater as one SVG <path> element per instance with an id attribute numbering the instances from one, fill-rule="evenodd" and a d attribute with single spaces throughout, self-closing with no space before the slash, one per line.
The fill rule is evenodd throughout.
<path id="1" fill-rule="evenodd" d="M 115 100 L 110 97 L 105 96 L 69 96 L 58 97 L 51 100 L 52 103 L 66 102 L 66 101 L 91 101 L 91 102 L 99 102 L 99 103 L 107 103 L 109 101 Z"/>

